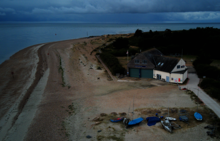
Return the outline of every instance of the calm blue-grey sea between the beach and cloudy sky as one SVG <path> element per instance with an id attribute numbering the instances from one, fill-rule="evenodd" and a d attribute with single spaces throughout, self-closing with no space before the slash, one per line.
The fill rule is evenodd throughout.
<path id="1" fill-rule="evenodd" d="M 0 23 L 0 64 L 26 47 L 89 36 L 134 33 L 137 29 L 147 32 L 188 30 L 197 27 L 220 28 L 220 23 Z"/>

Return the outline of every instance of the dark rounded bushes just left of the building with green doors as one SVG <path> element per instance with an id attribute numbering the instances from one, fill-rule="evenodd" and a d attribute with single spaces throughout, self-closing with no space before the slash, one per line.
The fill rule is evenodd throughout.
<path id="1" fill-rule="evenodd" d="M 118 59 L 114 55 L 110 53 L 101 53 L 100 57 L 113 75 L 116 75 L 116 73 L 125 73 L 126 70 L 121 66 Z"/>

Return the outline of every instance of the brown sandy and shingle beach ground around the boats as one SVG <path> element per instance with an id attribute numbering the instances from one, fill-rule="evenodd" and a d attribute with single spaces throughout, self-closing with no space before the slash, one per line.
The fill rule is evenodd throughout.
<path id="1" fill-rule="evenodd" d="M 173 134 L 160 123 L 149 127 L 144 121 L 126 129 L 109 122 L 122 112 L 131 117 L 133 110 L 133 118 L 146 118 L 154 116 L 155 110 L 167 114 L 167 107 L 192 112 L 196 107 L 190 95 L 173 84 L 148 79 L 110 81 L 91 52 L 115 38 L 111 36 L 36 45 L 4 62 L 0 66 L 0 140 L 210 140 L 203 129 L 205 121 L 191 122 L 189 127 L 179 123 L 183 128 Z M 94 125 L 92 119 L 100 113 L 107 116 Z"/>

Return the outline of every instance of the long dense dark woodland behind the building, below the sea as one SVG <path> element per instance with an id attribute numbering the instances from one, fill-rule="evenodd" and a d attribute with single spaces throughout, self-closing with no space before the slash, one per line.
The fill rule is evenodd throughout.
<path id="1" fill-rule="evenodd" d="M 156 47 L 163 54 L 184 54 L 198 55 L 206 53 L 212 55 L 214 59 L 220 59 L 218 55 L 218 45 L 220 43 L 220 29 L 206 27 L 181 31 L 171 31 L 166 29 L 164 32 L 143 33 L 136 30 L 135 35 L 129 39 L 130 45 L 147 50 Z"/>

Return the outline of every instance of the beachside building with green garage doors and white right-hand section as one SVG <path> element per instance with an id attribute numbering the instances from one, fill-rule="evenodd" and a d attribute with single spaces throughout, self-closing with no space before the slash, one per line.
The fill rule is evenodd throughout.
<path id="1" fill-rule="evenodd" d="M 136 55 L 127 67 L 130 77 L 155 78 L 173 83 L 183 83 L 188 77 L 183 59 L 163 56 L 156 48 Z"/>

